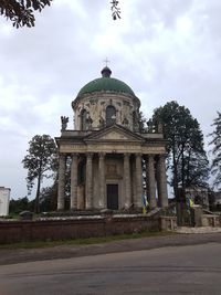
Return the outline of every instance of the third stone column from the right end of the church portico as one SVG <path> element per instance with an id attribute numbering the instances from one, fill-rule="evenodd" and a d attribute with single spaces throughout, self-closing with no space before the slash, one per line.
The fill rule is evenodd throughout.
<path id="1" fill-rule="evenodd" d="M 143 170 L 141 154 L 136 154 L 136 196 L 134 200 L 135 208 L 141 208 L 143 194 Z"/>

